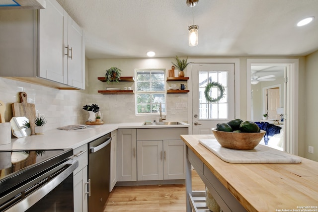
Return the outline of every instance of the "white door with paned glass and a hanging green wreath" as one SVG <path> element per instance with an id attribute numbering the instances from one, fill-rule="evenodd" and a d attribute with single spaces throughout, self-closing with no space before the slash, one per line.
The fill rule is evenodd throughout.
<path id="1" fill-rule="evenodd" d="M 211 128 L 235 118 L 235 69 L 234 64 L 192 65 L 192 115 L 193 134 L 212 134 Z M 208 83 L 217 82 L 224 87 L 224 96 L 216 102 L 205 97 Z M 220 89 L 212 87 L 208 96 L 220 97 Z"/>

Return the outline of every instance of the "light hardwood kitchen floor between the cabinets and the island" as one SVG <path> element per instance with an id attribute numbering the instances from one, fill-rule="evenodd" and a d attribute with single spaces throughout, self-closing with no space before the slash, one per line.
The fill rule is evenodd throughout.
<path id="1" fill-rule="evenodd" d="M 192 190 L 205 190 L 195 170 L 192 170 Z M 185 212 L 185 185 L 115 187 L 104 212 Z"/>

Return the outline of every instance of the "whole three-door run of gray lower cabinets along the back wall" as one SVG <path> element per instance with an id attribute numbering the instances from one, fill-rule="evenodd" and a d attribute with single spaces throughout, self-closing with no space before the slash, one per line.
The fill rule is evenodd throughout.
<path id="1" fill-rule="evenodd" d="M 117 130 L 117 181 L 185 179 L 188 128 Z"/>

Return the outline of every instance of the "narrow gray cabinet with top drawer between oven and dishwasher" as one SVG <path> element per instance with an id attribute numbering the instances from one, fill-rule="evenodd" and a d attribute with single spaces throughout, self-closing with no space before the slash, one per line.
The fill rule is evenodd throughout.
<path id="1" fill-rule="evenodd" d="M 79 167 L 73 172 L 74 211 L 87 212 L 87 144 L 74 149 L 73 152 L 74 159 L 79 161 Z"/>

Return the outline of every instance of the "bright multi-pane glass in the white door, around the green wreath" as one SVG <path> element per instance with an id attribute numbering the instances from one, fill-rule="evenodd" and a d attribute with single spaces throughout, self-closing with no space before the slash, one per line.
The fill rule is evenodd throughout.
<path id="1" fill-rule="evenodd" d="M 223 98 L 217 102 L 209 102 L 205 98 L 205 88 L 211 82 L 218 82 L 224 88 Z M 228 71 L 199 71 L 199 119 L 228 119 Z M 209 96 L 218 98 L 220 89 L 211 87 Z"/>

